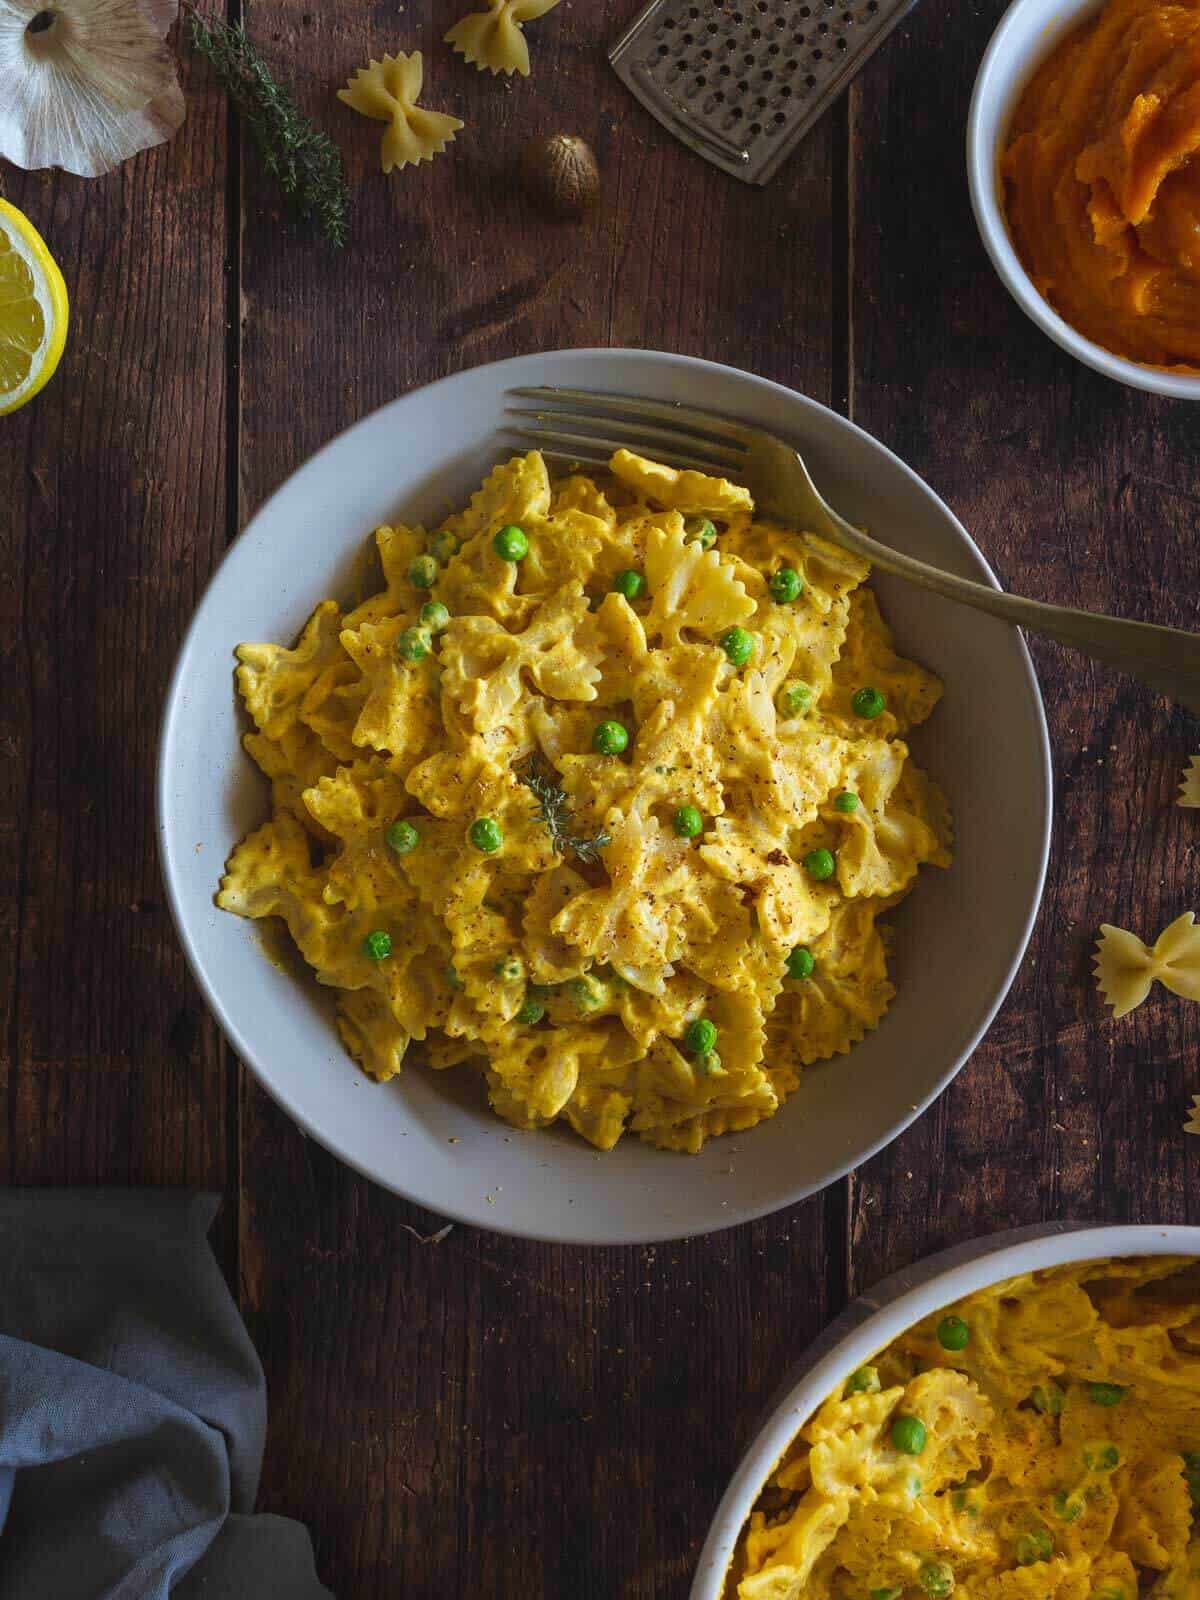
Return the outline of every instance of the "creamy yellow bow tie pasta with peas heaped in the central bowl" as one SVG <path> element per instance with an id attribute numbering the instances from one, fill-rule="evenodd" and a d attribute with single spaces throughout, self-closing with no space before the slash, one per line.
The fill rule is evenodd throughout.
<path id="1" fill-rule="evenodd" d="M 627 451 L 376 544 L 379 594 L 237 651 L 272 816 L 218 904 L 283 920 L 376 1078 L 416 1040 L 605 1150 L 773 1115 L 880 1021 L 880 917 L 950 859 L 904 742 L 941 685 L 867 568 Z"/>

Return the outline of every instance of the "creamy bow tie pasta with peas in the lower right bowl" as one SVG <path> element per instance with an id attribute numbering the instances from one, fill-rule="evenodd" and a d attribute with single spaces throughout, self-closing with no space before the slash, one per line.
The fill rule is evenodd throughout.
<path id="1" fill-rule="evenodd" d="M 752 1512 L 738 1600 L 1184 1600 L 1200 1563 L 1200 1264 L 1010 1278 L 861 1366 Z"/>

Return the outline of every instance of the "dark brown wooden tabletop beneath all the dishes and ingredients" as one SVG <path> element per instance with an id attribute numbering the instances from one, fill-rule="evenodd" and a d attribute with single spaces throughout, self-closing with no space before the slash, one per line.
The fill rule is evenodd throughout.
<path id="1" fill-rule="evenodd" d="M 779 1371 L 848 1294 L 954 1240 L 1046 1218 L 1195 1221 L 1200 1008 L 1114 1022 L 1096 928 L 1200 901 L 1173 805 L 1200 733 L 1034 645 L 1056 832 L 1029 955 L 987 1042 L 896 1144 L 710 1238 L 568 1250 L 437 1221 L 355 1178 L 238 1067 L 192 984 L 154 842 L 168 670 L 221 554 L 306 456 L 394 395 L 517 352 L 682 350 L 813 395 L 896 450 L 1002 581 L 1197 627 L 1195 413 L 1075 365 L 1014 307 L 971 221 L 963 128 L 1003 0 L 923 0 L 766 190 L 675 144 L 605 45 L 634 0 L 534 22 L 534 75 L 438 43 L 461 0 L 250 0 L 248 26 L 347 155 L 354 237 L 278 216 L 203 64 L 176 139 L 104 179 L 0 166 L 74 325 L 0 421 L 0 1178 L 190 1184 L 267 1370 L 261 1504 L 357 1597 L 686 1595 Z M 384 179 L 333 99 L 422 48 L 467 128 Z M 520 144 L 582 133 L 590 221 L 536 218 Z M 979 683 L 979 715 L 989 686 Z M 1030 840 L 1030 848 L 1034 842 Z"/>

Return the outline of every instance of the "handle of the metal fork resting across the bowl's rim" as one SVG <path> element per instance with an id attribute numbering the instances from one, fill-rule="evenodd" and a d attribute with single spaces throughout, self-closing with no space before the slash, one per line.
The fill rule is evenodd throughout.
<path id="1" fill-rule="evenodd" d="M 958 600 L 962 605 L 974 606 L 976 611 L 987 611 L 989 616 L 997 616 L 1002 622 L 1014 622 L 1030 634 L 1043 634 L 1046 638 L 1058 640 L 1059 645 L 1080 650 L 1094 661 L 1120 667 L 1157 693 L 1179 701 L 1190 712 L 1200 715 L 1200 635 L 1187 634 L 1178 627 L 1160 627 L 1155 622 L 1130 622 L 1096 611 L 1077 611 L 1066 605 L 1026 600 L 1021 595 L 1005 594 L 1002 589 L 971 582 L 970 578 L 955 578 L 952 573 L 928 566 L 912 555 L 878 544 L 838 517 L 832 506 L 827 509 L 832 514 L 834 528 L 830 533 L 835 542 L 854 555 L 864 557 L 872 566 L 893 573 L 896 578 L 906 578 L 923 589 L 931 589 L 947 600 Z"/>

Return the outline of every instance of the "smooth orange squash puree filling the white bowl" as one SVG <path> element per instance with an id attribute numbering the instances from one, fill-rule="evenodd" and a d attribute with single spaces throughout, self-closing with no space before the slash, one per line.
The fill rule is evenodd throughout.
<path id="1" fill-rule="evenodd" d="M 1200 0 L 1109 0 L 1042 64 L 1003 154 L 1008 226 L 1069 323 L 1200 366 Z"/>

